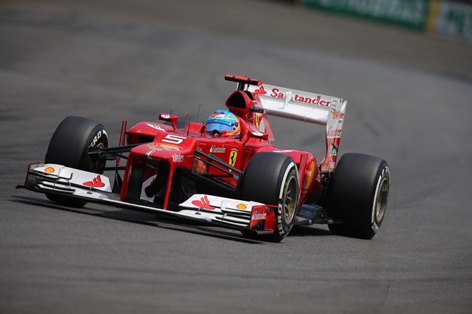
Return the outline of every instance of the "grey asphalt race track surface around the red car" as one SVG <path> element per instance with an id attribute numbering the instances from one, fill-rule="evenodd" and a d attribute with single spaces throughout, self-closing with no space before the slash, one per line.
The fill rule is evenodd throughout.
<path id="1" fill-rule="evenodd" d="M 472 46 L 265 1 L 0 1 L 0 313 L 471 313 Z M 282 243 L 16 190 L 67 115 L 199 120 L 224 74 L 349 100 L 340 153 L 385 158 L 373 240 Z M 274 121 L 320 156 L 322 128 Z"/>

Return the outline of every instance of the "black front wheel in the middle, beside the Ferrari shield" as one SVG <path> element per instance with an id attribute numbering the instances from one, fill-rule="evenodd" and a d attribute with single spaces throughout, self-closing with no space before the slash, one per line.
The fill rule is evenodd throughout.
<path id="1" fill-rule="evenodd" d="M 298 205 L 298 169 L 280 153 L 256 153 L 240 179 L 241 199 L 276 205 L 276 230 L 267 240 L 280 242 L 291 231 Z M 243 236 L 246 236 L 243 233 Z"/>

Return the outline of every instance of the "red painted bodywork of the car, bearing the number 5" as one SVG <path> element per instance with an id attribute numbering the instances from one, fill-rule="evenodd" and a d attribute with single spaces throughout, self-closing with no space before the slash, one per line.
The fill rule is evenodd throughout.
<path id="1" fill-rule="evenodd" d="M 299 207 L 305 202 L 311 192 L 320 189 L 320 171 L 318 163 L 312 153 L 308 151 L 286 150 L 281 151 L 270 143 L 274 139 L 269 120 L 264 113 L 255 113 L 252 106 L 262 107 L 259 100 L 260 91 L 235 91 L 227 98 L 228 109 L 240 117 L 240 139 L 230 136 L 213 137 L 206 134 L 204 125 L 189 123 L 184 129 L 175 129 L 177 117 L 161 114 L 159 120 L 169 121 L 173 126 L 158 122 L 140 122 L 128 129 L 127 144 L 139 144 L 130 151 L 123 177 L 123 187 L 120 195 L 125 200 L 128 190 L 130 173 L 137 163 L 144 163 L 148 159 L 164 160 L 169 163 L 169 178 L 172 178 L 177 167 L 192 169 L 194 166 L 194 152 L 196 149 L 203 153 L 212 152 L 214 156 L 230 163 L 235 168 L 244 170 L 249 159 L 255 153 L 262 151 L 274 151 L 291 156 L 298 165 L 300 178 Z M 264 129 L 261 122 L 264 121 Z M 218 173 L 218 169 L 210 167 L 212 173 Z M 152 175 L 152 173 L 151 173 Z M 144 180 L 150 178 L 145 175 Z M 236 186 L 237 181 L 227 178 L 227 182 Z M 167 180 L 167 197 L 164 199 L 164 209 L 167 209 L 171 180 Z"/>

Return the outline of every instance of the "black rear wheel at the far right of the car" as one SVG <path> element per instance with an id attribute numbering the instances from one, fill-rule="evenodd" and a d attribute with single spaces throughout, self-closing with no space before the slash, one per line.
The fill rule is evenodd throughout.
<path id="1" fill-rule="evenodd" d="M 346 153 L 337 164 L 328 191 L 328 216 L 344 221 L 328 225 L 332 233 L 371 239 L 385 215 L 390 172 L 381 158 Z"/>

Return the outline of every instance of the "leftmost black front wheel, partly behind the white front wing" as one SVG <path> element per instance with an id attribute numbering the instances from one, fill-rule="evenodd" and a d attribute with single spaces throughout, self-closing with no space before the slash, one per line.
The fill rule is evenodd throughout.
<path id="1" fill-rule="evenodd" d="M 67 117 L 57 126 L 47 147 L 45 163 L 103 173 L 105 161 L 86 154 L 89 146 L 108 147 L 108 134 L 102 124 L 84 117 Z M 83 207 L 86 202 L 58 194 L 46 193 L 48 199 L 71 207 Z"/>

